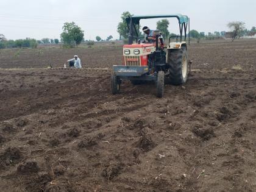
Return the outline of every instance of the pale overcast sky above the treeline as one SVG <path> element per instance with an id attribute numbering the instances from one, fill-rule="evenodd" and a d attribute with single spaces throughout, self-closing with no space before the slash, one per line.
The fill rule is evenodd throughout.
<path id="1" fill-rule="evenodd" d="M 199 32 L 229 30 L 230 21 L 243 21 L 246 28 L 256 26 L 255 0 L 0 0 L 0 34 L 7 39 L 60 38 L 65 22 L 74 21 L 85 32 L 85 40 L 112 35 L 121 14 L 157 15 L 181 13 L 190 17 L 190 29 Z M 141 26 L 156 28 L 158 20 L 141 20 Z M 178 32 L 177 19 L 169 19 L 169 31 Z"/>

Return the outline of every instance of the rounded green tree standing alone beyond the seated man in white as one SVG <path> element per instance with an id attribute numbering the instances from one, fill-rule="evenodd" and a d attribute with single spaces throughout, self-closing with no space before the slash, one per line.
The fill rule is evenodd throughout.
<path id="1" fill-rule="evenodd" d="M 76 43 L 76 46 L 84 39 L 84 30 L 82 30 L 76 23 L 64 23 L 62 27 L 63 32 L 60 37 L 65 44 Z"/>

